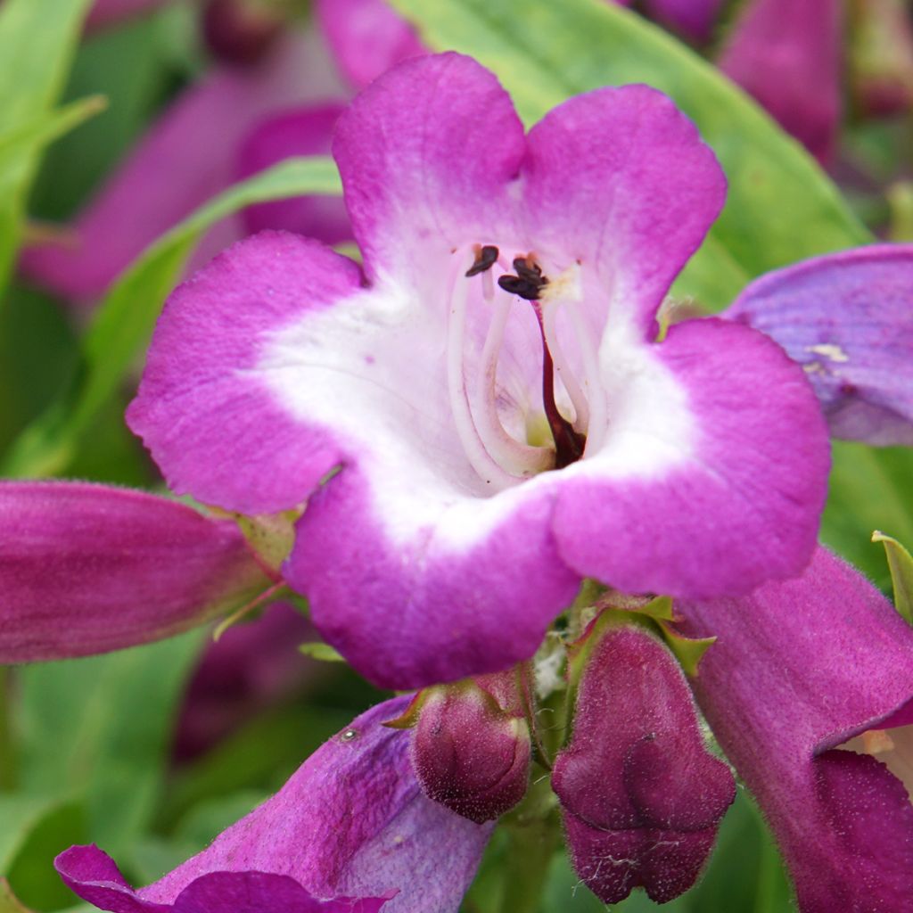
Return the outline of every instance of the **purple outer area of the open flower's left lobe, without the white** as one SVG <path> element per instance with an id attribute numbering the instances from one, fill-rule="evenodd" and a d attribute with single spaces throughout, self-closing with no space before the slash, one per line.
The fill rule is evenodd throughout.
<path id="1" fill-rule="evenodd" d="M 127 410 L 170 488 L 239 513 L 275 513 L 306 500 L 342 462 L 338 442 L 302 434 L 254 369 L 271 332 L 302 310 L 319 317 L 361 285 L 351 260 L 265 232 L 175 289 Z"/>

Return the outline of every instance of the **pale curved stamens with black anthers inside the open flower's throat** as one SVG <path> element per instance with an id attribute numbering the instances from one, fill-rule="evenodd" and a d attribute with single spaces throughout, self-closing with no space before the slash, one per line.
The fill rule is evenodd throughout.
<path id="1" fill-rule="evenodd" d="M 553 293 L 561 284 L 550 287 L 549 278 L 531 254 L 514 257 L 511 266 L 512 273 L 494 245 L 463 247 L 455 252 L 447 331 L 447 378 L 457 431 L 478 475 L 498 488 L 581 459 L 591 422 L 587 397 L 558 341 L 556 311 L 561 305 L 561 297 Z M 498 358 L 511 309 L 518 298 L 530 303 L 539 329 L 542 411 L 553 446 L 531 446 L 519 441 L 509 435 L 498 415 Z M 488 331 L 480 359 L 467 370 L 465 337 L 470 299 L 486 309 Z M 592 342 L 581 332 L 582 322 L 572 320 L 572 326 L 579 348 L 592 350 Z M 476 352 L 471 354 L 476 355 Z M 588 354 L 589 358 L 585 355 L 583 358 L 584 371 L 587 381 L 592 383 L 593 378 L 589 375 L 594 373 L 595 352 Z M 573 420 L 562 415 L 559 408 L 556 377 L 567 394 L 566 399 L 570 400 Z"/>

